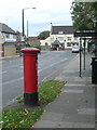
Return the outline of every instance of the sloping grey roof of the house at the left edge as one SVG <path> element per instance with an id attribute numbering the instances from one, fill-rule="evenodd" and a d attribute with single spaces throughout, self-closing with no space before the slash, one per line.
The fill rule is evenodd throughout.
<path id="1" fill-rule="evenodd" d="M 8 25 L 3 23 L 0 23 L 0 31 L 16 35 L 16 32 L 11 27 L 9 27 Z"/>

